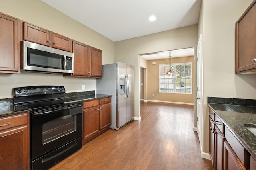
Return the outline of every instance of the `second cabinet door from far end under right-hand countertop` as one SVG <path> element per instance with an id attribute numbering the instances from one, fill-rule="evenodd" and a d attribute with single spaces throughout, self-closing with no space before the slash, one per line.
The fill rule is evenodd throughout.
<path id="1" fill-rule="evenodd" d="M 224 136 L 220 132 L 218 127 L 215 127 L 215 170 L 223 169 L 223 147 L 224 147 Z"/>

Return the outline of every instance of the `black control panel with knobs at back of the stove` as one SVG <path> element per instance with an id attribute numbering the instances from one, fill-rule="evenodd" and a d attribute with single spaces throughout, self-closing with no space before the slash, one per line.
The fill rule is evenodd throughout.
<path id="1" fill-rule="evenodd" d="M 65 93 L 64 86 L 28 86 L 14 88 L 14 97 L 58 93 Z"/>

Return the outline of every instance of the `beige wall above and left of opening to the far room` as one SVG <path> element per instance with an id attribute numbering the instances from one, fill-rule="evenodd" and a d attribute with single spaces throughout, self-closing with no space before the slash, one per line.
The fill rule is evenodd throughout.
<path id="1" fill-rule="evenodd" d="M 140 54 L 197 46 L 197 24 L 115 42 L 115 61 L 135 67 L 135 117 L 140 118 Z M 195 50 L 196 53 L 196 50 Z M 147 69 L 148 70 L 148 69 Z M 148 75 L 146 75 L 148 76 Z"/>

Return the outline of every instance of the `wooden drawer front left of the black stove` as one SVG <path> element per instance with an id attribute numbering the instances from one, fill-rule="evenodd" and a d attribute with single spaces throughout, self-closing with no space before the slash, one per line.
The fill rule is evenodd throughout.
<path id="1" fill-rule="evenodd" d="M 11 127 L 27 124 L 27 114 L 0 119 L 0 131 Z"/>

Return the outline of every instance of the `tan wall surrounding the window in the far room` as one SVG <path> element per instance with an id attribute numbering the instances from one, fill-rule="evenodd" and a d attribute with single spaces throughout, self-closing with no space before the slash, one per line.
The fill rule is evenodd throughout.
<path id="1" fill-rule="evenodd" d="M 194 72 L 194 56 L 190 57 L 176 57 L 171 59 L 171 63 L 189 63 L 192 62 L 192 72 Z M 156 65 L 152 65 L 152 62 L 156 62 Z M 193 95 L 192 94 L 178 94 L 178 93 L 159 93 L 159 65 L 168 64 L 169 59 L 160 59 L 160 60 L 149 60 L 148 61 L 148 98 L 147 100 L 157 100 L 159 102 L 173 102 L 173 103 L 182 103 L 182 104 L 193 104 Z M 192 89 L 194 76 L 192 75 Z M 152 96 L 154 94 L 154 97 Z"/>

